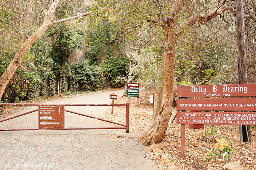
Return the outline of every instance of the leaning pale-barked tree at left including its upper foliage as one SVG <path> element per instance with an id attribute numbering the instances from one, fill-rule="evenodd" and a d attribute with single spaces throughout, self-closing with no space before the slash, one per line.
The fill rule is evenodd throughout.
<path id="1" fill-rule="evenodd" d="M 20 15 L 11 15 L 14 18 L 14 21 L 17 23 L 15 25 L 15 31 L 13 30 L 4 30 L 5 37 L 13 37 L 13 43 L 5 47 L 4 50 L 12 49 L 14 52 L 14 58 L 9 64 L 5 72 L 3 72 L 0 78 L 0 96 L 2 97 L 8 82 L 11 77 L 14 75 L 15 71 L 18 69 L 20 64 L 23 61 L 26 51 L 29 47 L 36 42 L 45 31 L 54 24 L 66 22 L 74 19 L 78 19 L 84 16 L 90 15 L 90 12 L 80 13 L 79 15 L 73 16 L 71 18 L 60 19 L 57 21 L 52 21 L 55 13 L 56 6 L 58 6 L 59 0 L 55 0 L 50 4 L 50 1 L 29 1 L 27 3 L 16 3 L 16 1 L 9 1 L 8 9 L 13 13 L 16 11 L 20 12 Z M 1 4 L 3 4 L 1 2 Z M 3 7 L 3 6 L 1 6 Z M 48 10 L 44 10 L 48 9 Z M 78 11 L 76 11 L 78 13 Z M 38 17 L 41 14 L 40 17 Z M 38 18 L 37 18 L 38 17 Z M 40 26 L 41 25 L 41 26 Z M 21 36 L 21 38 L 20 38 Z M 3 39 L 3 37 L 1 37 Z M 4 39 L 5 40 L 5 39 Z M 6 41 L 3 41 L 6 43 Z M 16 43 L 16 44 L 15 44 Z M 15 44 L 15 46 L 14 46 Z M 17 50 L 18 49 L 18 50 Z M 4 51 L 3 50 L 3 51 Z M 2 53 L 2 51 L 1 51 Z"/>

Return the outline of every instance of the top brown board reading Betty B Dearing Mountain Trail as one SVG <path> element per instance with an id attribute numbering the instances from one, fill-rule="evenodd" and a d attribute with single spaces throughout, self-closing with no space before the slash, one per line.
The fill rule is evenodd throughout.
<path id="1" fill-rule="evenodd" d="M 256 96 L 256 84 L 177 86 L 177 97 Z"/>

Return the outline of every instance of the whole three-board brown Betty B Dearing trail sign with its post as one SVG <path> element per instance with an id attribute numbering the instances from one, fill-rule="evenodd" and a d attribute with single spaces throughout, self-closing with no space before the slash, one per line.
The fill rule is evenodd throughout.
<path id="1" fill-rule="evenodd" d="M 256 84 L 177 86 L 177 97 L 181 97 L 177 99 L 176 118 L 176 123 L 181 124 L 180 157 L 183 158 L 185 152 L 185 124 L 256 125 L 256 112 L 223 112 L 256 111 L 256 98 L 230 98 L 255 97 L 255 89 Z M 185 110 L 221 112 L 186 112 Z"/>

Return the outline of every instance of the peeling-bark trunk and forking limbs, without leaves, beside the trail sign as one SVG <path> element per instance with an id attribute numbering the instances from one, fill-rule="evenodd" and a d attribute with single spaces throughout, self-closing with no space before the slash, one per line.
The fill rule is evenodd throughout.
<path id="1" fill-rule="evenodd" d="M 172 101 L 175 95 L 175 44 L 178 37 L 185 29 L 188 29 L 196 22 L 206 24 L 212 18 L 221 15 L 225 10 L 230 9 L 229 4 L 222 1 L 216 9 L 207 13 L 192 15 L 183 24 L 178 25 L 178 16 L 181 15 L 181 11 L 185 3 L 186 1 L 183 0 L 174 1 L 168 16 L 164 16 L 163 11 L 161 11 L 162 23 L 159 24 L 165 29 L 165 54 L 163 62 L 164 65 L 162 67 L 164 83 L 163 88 L 159 87 L 156 92 L 153 124 L 140 139 L 145 145 L 162 142 L 168 127 L 169 119 L 172 115 Z M 160 3 L 158 1 L 155 1 L 155 4 L 160 8 Z"/>

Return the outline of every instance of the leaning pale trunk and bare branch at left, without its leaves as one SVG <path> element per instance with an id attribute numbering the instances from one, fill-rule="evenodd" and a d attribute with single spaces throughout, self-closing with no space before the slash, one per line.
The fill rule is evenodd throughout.
<path id="1" fill-rule="evenodd" d="M 12 75 L 14 75 L 15 71 L 18 69 L 18 67 L 22 63 L 23 56 L 25 55 L 27 49 L 29 49 L 29 47 L 34 42 L 36 42 L 45 33 L 45 31 L 49 27 L 51 27 L 54 24 L 58 24 L 58 23 L 61 23 L 61 22 L 66 22 L 66 21 L 71 21 L 71 20 L 74 20 L 74 19 L 78 19 L 78 18 L 82 18 L 82 17 L 90 15 L 90 12 L 86 12 L 86 13 L 82 13 L 82 14 L 73 16 L 71 18 L 52 21 L 54 13 L 55 13 L 55 9 L 58 6 L 58 3 L 59 3 L 59 0 L 53 0 L 47 11 L 45 10 L 45 8 L 43 8 L 43 10 L 41 10 L 41 12 L 44 11 L 44 13 L 45 13 L 45 16 L 44 16 L 44 19 L 43 19 L 43 24 L 31 36 L 29 36 L 27 39 L 25 38 L 26 36 L 22 36 L 22 38 L 24 39 L 24 42 L 21 43 L 20 47 L 18 47 L 18 51 L 15 54 L 12 62 L 9 64 L 8 68 L 2 74 L 2 76 L 0 78 L 0 98 L 2 98 L 3 92 L 5 91 L 6 86 L 8 85 L 8 82 L 10 81 Z M 31 5 L 31 1 L 29 1 L 28 5 L 27 4 L 24 4 L 24 5 L 26 6 L 25 9 L 28 8 Z M 44 5 L 46 7 L 47 3 L 44 4 Z M 32 9 L 33 9 L 33 7 L 31 6 L 29 14 L 33 13 Z M 24 12 L 24 13 L 26 13 L 26 12 Z M 20 32 L 23 33 L 23 30 L 21 30 Z"/>

